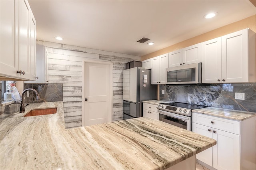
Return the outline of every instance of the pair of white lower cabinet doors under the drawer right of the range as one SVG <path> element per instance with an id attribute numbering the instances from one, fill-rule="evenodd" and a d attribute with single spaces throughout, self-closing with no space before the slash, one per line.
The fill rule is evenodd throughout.
<path id="1" fill-rule="evenodd" d="M 217 144 L 196 158 L 218 170 L 239 170 L 239 135 L 192 123 L 192 131 L 217 141 Z"/>

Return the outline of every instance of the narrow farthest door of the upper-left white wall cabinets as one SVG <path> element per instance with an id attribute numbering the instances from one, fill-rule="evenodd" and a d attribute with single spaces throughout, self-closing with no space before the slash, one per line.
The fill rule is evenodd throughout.
<path id="1" fill-rule="evenodd" d="M 31 10 L 30 10 L 30 79 L 36 81 L 36 20 Z"/>

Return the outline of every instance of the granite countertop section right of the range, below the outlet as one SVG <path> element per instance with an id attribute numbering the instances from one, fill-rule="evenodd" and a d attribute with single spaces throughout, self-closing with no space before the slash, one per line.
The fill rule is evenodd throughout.
<path id="1" fill-rule="evenodd" d="M 254 112 L 247 112 L 247 111 L 237 111 L 231 109 L 221 109 L 218 107 L 206 107 L 202 109 L 194 109 L 192 110 L 193 113 L 202 113 L 204 115 L 216 116 L 225 119 L 232 119 L 235 121 L 244 121 L 251 117 L 256 116 Z"/>

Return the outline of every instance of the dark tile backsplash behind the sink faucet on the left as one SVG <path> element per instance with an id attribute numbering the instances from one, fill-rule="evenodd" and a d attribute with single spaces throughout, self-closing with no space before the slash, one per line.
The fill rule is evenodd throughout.
<path id="1" fill-rule="evenodd" d="M 26 97 L 26 93 L 24 94 L 25 103 L 63 101 L 62 84 L 24 83 L 24 89 L 28 89 L 28 88 L 33 88 L 36 91 L 38 91 L 41 100 L 37 101 L 35 93 L 33 91 L 29 91 L 29 97 Z"/>

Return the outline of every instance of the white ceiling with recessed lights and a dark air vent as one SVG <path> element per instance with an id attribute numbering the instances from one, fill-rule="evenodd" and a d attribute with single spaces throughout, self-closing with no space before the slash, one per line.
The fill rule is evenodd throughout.
<path id="1" fill-rule="evenodd" d="M 256 14 L 249 0 L 28 2 L 36 18 L 38 40 L 137 56 Z M 218 15 L 203 18 L 208 12 Z M 136 42 L 143 37 L 155 44 Z"/>

